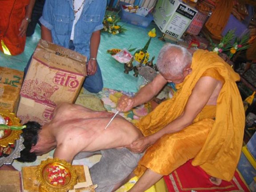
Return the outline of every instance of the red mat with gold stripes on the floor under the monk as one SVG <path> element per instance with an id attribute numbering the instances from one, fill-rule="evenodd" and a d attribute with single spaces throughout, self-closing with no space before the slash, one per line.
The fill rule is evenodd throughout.
<path id="1" fill-rule="evenodd" d="M 215 191 L 234 191 L 242 190 L 249 192 L 249 189 L 239 175 L 235 172 L 233 179 L 222 181 L 221 185 L 217 186 L 210 182 L 210 176 L 204 172 L 199 166 L 192 166 L 191 161 L 188 161 L 169 176 L 163 177 L 169 192 L 215 192 Z"/>

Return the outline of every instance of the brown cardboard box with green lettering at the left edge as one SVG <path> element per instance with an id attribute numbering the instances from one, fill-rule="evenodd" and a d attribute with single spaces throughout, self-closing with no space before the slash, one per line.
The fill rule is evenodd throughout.
<path id="1" fill-rule="evenodd" d="M 0 108 L 16 113 L 23 71 L 0 67 Z"/>

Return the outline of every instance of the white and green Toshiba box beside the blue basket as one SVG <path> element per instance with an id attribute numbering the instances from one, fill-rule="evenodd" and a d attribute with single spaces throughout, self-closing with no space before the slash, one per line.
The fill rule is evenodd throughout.
<path id="1" fill-rule="evenodd" d="M 196 14 L 195 8 L 179 0 L 159 0 L 155 7 L 154 21 L 162 33 L 180 39 Z"/>

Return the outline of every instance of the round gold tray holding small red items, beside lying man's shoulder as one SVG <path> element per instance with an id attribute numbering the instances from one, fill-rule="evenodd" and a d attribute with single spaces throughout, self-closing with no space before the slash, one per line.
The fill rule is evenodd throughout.
<path id="1" fill-rule="evenodd" d="M 52 169 L 58 168 L 63 173 L 65 179 L 62 183 L 54 183 L 49 178 Z M 40 165 L 37 166 L 37 180 L 40 183 L 41 192 L 67 192 L 69 189 L 73 189 L 77 175 L 74 167 L 65 160 L 58 158 L 48 158 L 45 161 L 41 161 Z"/>

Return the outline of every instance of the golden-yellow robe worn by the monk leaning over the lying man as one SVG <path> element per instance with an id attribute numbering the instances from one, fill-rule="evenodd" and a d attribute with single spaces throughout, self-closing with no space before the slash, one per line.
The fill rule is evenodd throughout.
<path id="1" fill-rule="evenodd" d="M 144 136 L 164 128 L 179 117 L 187 104 L 189 95 L 200 77 L 214 69 L 223 78 L 223 86 L 217 106 L 205 106 L 193 123 L 179 132 L 162 136 L 148 148 L 140 160 L 135 174 L 141 176 L 146 168 L 168 175 L 188 159 L 211 176 L 231 180 L 240 158 L 244 135 L 245 114 L 236 81 L 239 75 L 216 53 L 197 50 L 192 57 L 192 73 L 177 94 L 142 118 L 136 126 Z M 215 112 L 216 109 L 216 112 Z M 215 120 L 212 116 L 216 114 Z"/>

